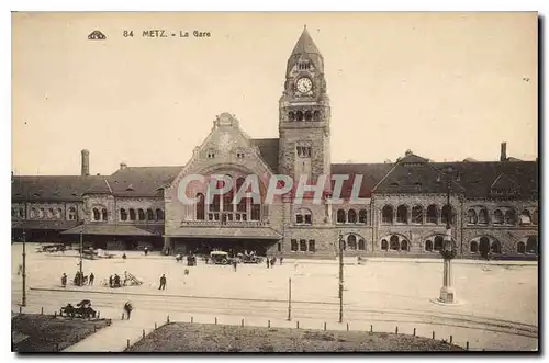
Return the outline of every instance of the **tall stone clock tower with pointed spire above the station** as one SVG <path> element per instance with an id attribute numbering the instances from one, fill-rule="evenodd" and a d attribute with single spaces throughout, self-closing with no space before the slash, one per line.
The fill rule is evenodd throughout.
<path id="1" fill-rule="evenodd" d="M 288 59 L 279 102 L 281 173 L 294 181 L 330 173 L 329 120 L 324 58 L 305 26 Z"/>

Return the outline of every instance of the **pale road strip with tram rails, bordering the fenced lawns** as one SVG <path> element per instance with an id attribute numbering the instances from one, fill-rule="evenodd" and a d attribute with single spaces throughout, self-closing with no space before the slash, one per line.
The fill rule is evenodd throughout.
<path id="1" fill-rule="evenodd" d="M 21 290 L 18 288 L 12 295 L 12 306 L 21 300 Z M 134 328 L 149 328 L 153 322 L 147 318 L 155 316 L 159 324 L 168 315 L 171 320 L 189 321 L 195 317 L 195 322 L 213 322 L 215 317 L 238 324 L 242 318 L 246 321 L 265 321 L 268 319 L 285 320 L 288 317 L 288 303 L 274 300 L 254 300 L 234 298 L 200 298 L 178 295 L 156 294 L 128 294 L 124 291 L 116 292 L 79 292 L 63 290 L 31 290 L 27 293 L 27 309 L 40 310 L 44 307 L 45 313 L 52 314 L 60 306 L 71 302 L 90 298 L 96 309 L 101 311 L 102 317 L 119 320 L 122 306 L 132 300 L 136 310 L 134 311 Z M 494 319 L 486 317 L 472 317 L 457 313 L 434 313 L 433 310 L 417 309 L 368 309 L 356 306 L 344 306 L 345 321 L 352 329 L 370 330 L 370 325 L 376 331 L 394 331 L 399 326 L 401 332 L 411 333 L 414 328 L 417 334 L 430 337 L 436 331 L 436 338 L 452 336 L 456 343 L 464 345 L 466 341 L 471 347 L 483 347 L 486 349 L 535 349 L 537 347 L 538 328 L 536 326 Z M 292 322 L 301 321 L 302 328 L 321 329 L 323 321 L 334 325 L 338 320 L 339 305 L 334 303 L 303 302 L 292 304 Z M 199 318 L 200 317 L 200 318 Z M 137 319 L 137 320 L 135 320 Z M 199 320 L 201 319 L 201 320 Z M 143 324 L 139 326 L 139 320 Z M 208 321 L 210 320 L 210 321 Z M 233 321 L 234 320 L 234 321 Z M 155 320 L 156 321 L 156 320 Z M 261 325 L 261 322 L 259 322 Z M 111 328 L 110 328 L 111 329 Z M 127 329 L 127 327 L 125 328 Z M 126 332 L 127 330 L 124 330 Z M 121 343 L 123 342 L 121 338 Z"/>

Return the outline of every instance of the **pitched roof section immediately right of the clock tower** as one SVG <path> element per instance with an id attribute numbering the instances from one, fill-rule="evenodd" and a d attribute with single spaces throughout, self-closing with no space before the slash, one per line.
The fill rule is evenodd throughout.
<path id="1" fill-rule="evenodd" d="M 386 175 L 393 168 L 392 163 L 333 163 L 332 174 L 346 174 L 349 179 L 346 180 L 341 188 L 341 198 L 348 198 L 352 192 L 355 178 L 358 174 L 362 175 L 360 183 L 359 197 L 370 197 L 376 184 Z M 332 188 L 334 188 L 332 183 Z M 334 195 L 336 197 L 337 195 Z"/>

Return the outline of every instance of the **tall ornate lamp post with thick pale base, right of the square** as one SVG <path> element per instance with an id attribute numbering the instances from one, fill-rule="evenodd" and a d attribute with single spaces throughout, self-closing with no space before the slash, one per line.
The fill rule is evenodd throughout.
<path id="1" fill-rule="evenodd" d="M 450 171 L 450 170 L 448 170 Z M 442 275 L 442 287 L 440 287 L 439 303 L 453 304 L 456 303 L 456 291 L 452 286 L 452 274 L 451 274 L 451 260 L 456 257 L 456 248 L 451 238 L 451 219 L 452 219 L 452 208 L 450 204 L 450 191 L 452 179 L 447 173 L 446 175 L 446 236 L 444 240 L 442 248 L 440 249 L 440 254 L 444 259 L 444 275 Z M 459 181 L 459 174 L 457 177 Z"/>

